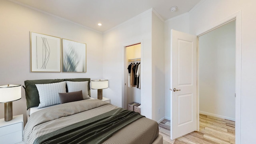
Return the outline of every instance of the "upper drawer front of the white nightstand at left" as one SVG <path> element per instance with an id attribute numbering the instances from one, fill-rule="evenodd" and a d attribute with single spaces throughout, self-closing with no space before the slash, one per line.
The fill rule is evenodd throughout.
<path id="1" fill-rule="evenodd" d="M 17 131 L 22 131 L 22 122 L 11 124 L 8 126 L 0 127 L 0 136 L 4 136 L 6 134 L 10 134 Z"/>

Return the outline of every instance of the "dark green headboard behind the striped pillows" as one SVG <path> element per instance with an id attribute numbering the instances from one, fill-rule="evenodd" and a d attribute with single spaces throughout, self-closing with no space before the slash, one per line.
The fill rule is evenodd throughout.
<path id="1" fill-rule="evenodd" d="M 63 81 L 73 81 L 73 82 L 84 82 L 88 81 L 88 95 L 91 96 L 90 92 L 90 78 L 66 78 L 66 79 L 52 79 L 52 80 L 26 80 L 25 84 L 25 92 L 26 92 L 26 102 L 27 102 L 27 110 L 31 107 L 38 106 L 40 103 L 38 90 L 35 84 L 50 84 L 55 82 L 63 82 Z M 68 88 L 66 86 L 66 92 L 68 92 Z"/>

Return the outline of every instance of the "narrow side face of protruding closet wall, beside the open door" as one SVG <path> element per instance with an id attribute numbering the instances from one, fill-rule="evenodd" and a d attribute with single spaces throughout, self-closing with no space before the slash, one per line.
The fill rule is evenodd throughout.
<path id="1" fill-rule="evenodd" d="M 164 119 L 164 22 L 152 13 L 152 114 Z"/>

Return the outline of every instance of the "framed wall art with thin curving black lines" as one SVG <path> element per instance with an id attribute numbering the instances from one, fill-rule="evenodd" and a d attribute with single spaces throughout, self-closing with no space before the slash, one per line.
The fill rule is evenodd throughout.
<path id="1" fill-rule="evenodd" d="M 61 72 L 60 38 L 30 32 L 31 72 Z"/>

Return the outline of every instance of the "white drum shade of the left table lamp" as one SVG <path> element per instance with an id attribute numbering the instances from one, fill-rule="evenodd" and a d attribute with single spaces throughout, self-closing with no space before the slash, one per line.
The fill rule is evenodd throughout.
<path id="1" fill-rule="evenodd" d="M 12 102 L 21 99 L 21 85 L 7 84 L 0 86 L 0 102 Z"/>

